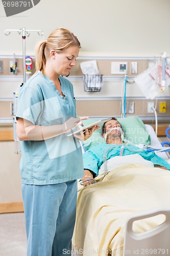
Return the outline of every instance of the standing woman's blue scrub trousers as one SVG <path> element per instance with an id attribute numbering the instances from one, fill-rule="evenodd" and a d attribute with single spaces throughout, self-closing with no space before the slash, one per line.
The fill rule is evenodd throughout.
<path id="1" fill-rule="evenodd" d="M 71 255 L 77 180 L 53 185 L 22 184 L 27 256 Z"/>

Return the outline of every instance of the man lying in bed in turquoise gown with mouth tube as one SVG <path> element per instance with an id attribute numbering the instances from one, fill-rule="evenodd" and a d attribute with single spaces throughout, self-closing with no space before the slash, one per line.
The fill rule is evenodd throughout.
<path id="1" fill-rule="evenodd" d="M 125 143 L 122 127 L 116 118 L 104 123 L 102 134 L 107 143 L 95 145 L 83 155 L 84 177 L 82 184 L 84 186 L 90 185 L 94 182 L 94 177 L 104 173 L 103 163 L 106 154 L 107 160 L 109 159 L 108 171 L 127 163 L 140 163 L 148 167 L 170 170 L 170 165 L 154 152 L 147 152 L 135 145 Z"/>

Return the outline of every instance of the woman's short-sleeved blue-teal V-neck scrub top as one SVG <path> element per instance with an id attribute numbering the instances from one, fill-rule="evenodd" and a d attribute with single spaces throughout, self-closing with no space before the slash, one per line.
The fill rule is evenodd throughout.
<path id="1" fill-rule="evenodd" d="M 39 71 L 19 90 L 16 118 L 35 125 L 62 124 L 76 117 L 76 99 L 72 84 L 59 77 L 61 90 Z M 67 134 L 42 141 L 20 141 L 20 172 L 25 184 L 56 184 L 83 176 L 83 159 L 80 141 Z"/>

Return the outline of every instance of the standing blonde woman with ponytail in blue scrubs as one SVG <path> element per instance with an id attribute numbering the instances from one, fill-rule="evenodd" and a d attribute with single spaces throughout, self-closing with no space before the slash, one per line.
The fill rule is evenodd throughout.
<path id="1" fill-rule="evenodd" d="M 71 253 L 83 161 L 80 138 L 67 135 L 87 117 L 76 116 L 72 84 L 63 76 L 75 66 L 80 48 L 69 30 L 53 31 L 37 46 L 36 72 L 19 91 L 16 118 L 28 256 Z M 95 129 L 86 129 L 81 139 Z"/>

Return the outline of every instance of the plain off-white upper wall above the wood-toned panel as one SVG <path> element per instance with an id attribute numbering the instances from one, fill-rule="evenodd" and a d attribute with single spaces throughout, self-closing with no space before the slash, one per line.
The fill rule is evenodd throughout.
<path id="1" fill-rule="evenodd" d="M 22 54 L 22 38 L 6 29 L 42 29 L 31 32 L 27 54 L 34 54 L 35 42 L 51 31 L 66 27 L 81 41 L 80 55 L 154 56 L 170 54 L 169 0 L 41 0 L 32 9 L 6 17 L 0 2 L 0 55 Z"/>

